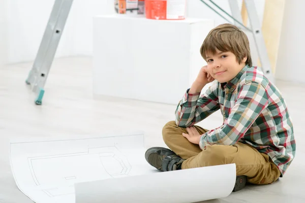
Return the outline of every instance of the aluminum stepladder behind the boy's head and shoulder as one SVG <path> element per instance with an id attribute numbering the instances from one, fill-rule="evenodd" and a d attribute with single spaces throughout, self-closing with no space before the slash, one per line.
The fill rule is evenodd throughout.
<path id="1" fill-rule="evenodd" d="M 206 3 L 206 1 L 204 1 L 204 0 L 200 0 L 200 1 L 202 3 L 204 3 L 207 7 L 209 7 L 213 11 L 215 11 L 222 18 L 224 18 L 225 20 L 230 22 L 228 19 L 226 19 L 224 16 L 222 16 L 218 11 L 216 11 L 214 8 L 209 6 L 209 4 Z M 248 12 L 248 16 L 249 16 L 249 22 L 250 22 L 250 25 L 251 25 L 252 29 L 250 29 L 250 28 L 248 28 L 248 27 L 246 27 L 245 25 L 242 24 L 241 12 L 238 8 L 237 0 L 228 0 L 228 1 L 229 1 L 229 4 L 230 4 L 230 9 L 231 9 L 232 16 L 230 14 L 228 14 L 220 6 L 218 6 L 216 3 L 214 3 L 212 0 L 209 0 L 209 2 L 211 2 L 214 6 L 216 6 L 222 12 L 227 14 L 229 17 L 231 17 L 234 20 L 234 24 L 237 27 L 239 27 L 241 29 L 242 28 L 247 29 L 248 31 L 252 32 L 253 37 L 254 37 L 254 41 L 255 41 L 255 45 L 256 45 L 256 49 L 257 49 L 257 52 L 258 52 L 258 57 L 259 57 L 259 60 L 260 60 L 260 63 L 261 63 L 262 71 L 264 72 L 265 76 L 272 83 L 275 83 L 275 79 L 274 79 L 274 76 L 273 76 L 272 71 L 271 71 L 271 65 L 270 65 L 270 61 L 269 61 L 269 58 L 268 58 L 267 48 L 266 48 L 266 45 L 265 45 L 265 41 L 264 41 L 264 37 L 263 37 L 263 34 L 262 34 L 261 25 L 259 23 L 259 18 L 258 18 L 257 12 L 256 12 L 254 1 L 253 0 L 244 0 L 245 5 L 246 5 L 246 9 L 247 9 L 247 12 Z"/>

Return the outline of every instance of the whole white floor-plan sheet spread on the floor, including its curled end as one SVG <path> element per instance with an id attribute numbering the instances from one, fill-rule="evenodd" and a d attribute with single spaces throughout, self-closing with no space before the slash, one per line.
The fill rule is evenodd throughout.
<path id="1" fill-rule="evenodd" d="M 36 203 L 195 202 L 232 192 L 235 164 L 159 172 L 143 142 L 143 133 L 17 139 L 12 173 Z"/>

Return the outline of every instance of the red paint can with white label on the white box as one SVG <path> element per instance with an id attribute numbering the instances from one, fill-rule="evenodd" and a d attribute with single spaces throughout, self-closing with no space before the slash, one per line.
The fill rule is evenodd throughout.
<path id="1" fill-rule="evenodd" d="M 187 0 L 145 0 L 145 14 L 148 19 L 183 20 Z"/>

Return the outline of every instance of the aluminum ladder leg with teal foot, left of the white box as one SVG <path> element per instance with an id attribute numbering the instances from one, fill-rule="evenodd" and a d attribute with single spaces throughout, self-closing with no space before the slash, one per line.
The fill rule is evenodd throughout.
<path id="1" fill-rule="evenodd" d="M 72 4 L 73 0 L 55 0 L 33 67 L 25 81 L 37 94 L 37 105 L 42 104 L 44 86 Z"/>

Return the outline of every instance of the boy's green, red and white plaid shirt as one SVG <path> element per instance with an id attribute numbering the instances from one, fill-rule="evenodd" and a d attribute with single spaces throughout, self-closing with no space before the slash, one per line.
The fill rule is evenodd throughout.
<path id="1" fill-rule="evenodd" d="M 215 81 L 202 96 L 188 91 L 175 112 L 178 126 L 192 126 L 219 109 L 224 119 L 220 127 L 201 136 L 201 149 L 249 144 L 268 154 L 283 177 L 295 156 L 293 126 L 280 91 L 260 69 L 246 65 L 230 82 Z"/>

